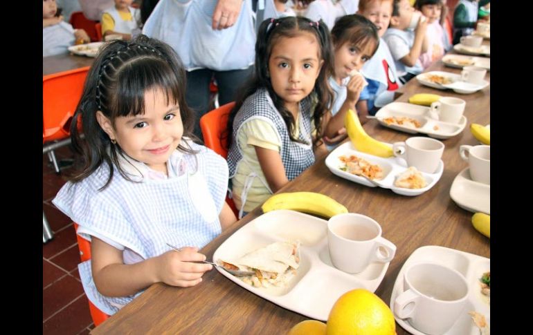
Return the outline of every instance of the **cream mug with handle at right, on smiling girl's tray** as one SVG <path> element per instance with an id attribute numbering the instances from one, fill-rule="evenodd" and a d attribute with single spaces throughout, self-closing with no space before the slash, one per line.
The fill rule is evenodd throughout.
<path id="1" fill-rule="evenodd" d="M 327 247 L 334 267 L 349 274 L 358 274 L 372 262 L 390 262 L 396 253 L 396 246 L 381 237 L 379 223 L 357 213 L 329 218 Z"/>

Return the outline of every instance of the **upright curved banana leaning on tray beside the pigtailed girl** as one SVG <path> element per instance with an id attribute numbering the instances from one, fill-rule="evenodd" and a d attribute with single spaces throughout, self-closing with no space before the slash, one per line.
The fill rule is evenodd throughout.
<path id="1" fill-rule="evenodd" d="M 390 146 L 373 139 L 365 132 L 363 126 L 361 126 L 361 122 L 359 122 L 357 113 L 351 109 L 346 113 L 344 126 L 346 127 L 348 137 L 350 137 L 352 144 L 354 144 L 354 148 L 358 151 L 385 158 L 394 155 Z"/>

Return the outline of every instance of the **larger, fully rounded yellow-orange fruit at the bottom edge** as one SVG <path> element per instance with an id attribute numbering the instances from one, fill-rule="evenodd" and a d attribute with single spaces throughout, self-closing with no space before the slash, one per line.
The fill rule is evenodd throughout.
<path id="1" fill-rule="evenodd" d="M 366 289 L 353 289 L 333 305 L 327 335 L 395 335 L 396 323 L 383 300 Z"/>

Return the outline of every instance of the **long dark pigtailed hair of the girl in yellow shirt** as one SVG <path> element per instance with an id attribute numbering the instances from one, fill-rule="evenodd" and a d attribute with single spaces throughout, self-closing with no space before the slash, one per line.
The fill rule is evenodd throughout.
<path id="1" fill-rule="evenodd" d="M 226 136 L 228 138 L 228 146 L 233 140 L 233 119 L 240 110 L 244 100 L 260 88 L 266 88 L 274 103 L 274 106 L 280 112 L 283 121 L 289 130 L 289 137 L 293 142 L 301 142 L 293 137 L 293 129 L 296 126 L 295 119 L 290 111 L 284 107 L 283 100 L 275 94 L 272 87 L 271 79 L 269 77 L 269 59 L 272 53 L 273 45 L 282 37 L 296 37 L 302 32 L 310 32 L 318 41 L 319 59 L 324 61 L 320 73 L 316 78 L 314 89 L 311 94 L 315 93 L 318 102 L 312 111 L 312 118 L 316 128 L 316 138 L 314 145 L 320 144 L 322 139 L 322 119 L 329 111 L 329 106 L 332 105 L 333 92 L 327 84 L 327 79 L 332 73 L 333 57 L 332 44 L 329 40 L 329 30 L 323 21 L 314 22 L 305 17 L 282 17 L 280 19 L 266 19 L 261 23 L 258 32 L 257 42 L 255 44 L 255 65 L 254 73 L 249 82 L 245 84 L 240 97 L 236 99 L 235 107 L 228 117 L 228 124 L 226 128 Z"/>

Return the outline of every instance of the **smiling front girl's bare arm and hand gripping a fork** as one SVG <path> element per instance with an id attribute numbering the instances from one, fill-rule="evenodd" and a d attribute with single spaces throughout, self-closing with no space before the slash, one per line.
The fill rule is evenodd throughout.
<path id="1" fill-rule="evenodd" d="M 106 242 L 91 239 L 91 266 L 93 280 L 104 296 L 130 296 L 154 283 L 190 287 L 201 282 L 204 272 L 212 265 L 193 263 L 206 260 L 197 248 L 167 251 L 132 265 L 123 262 L 123 251 Z"/>

